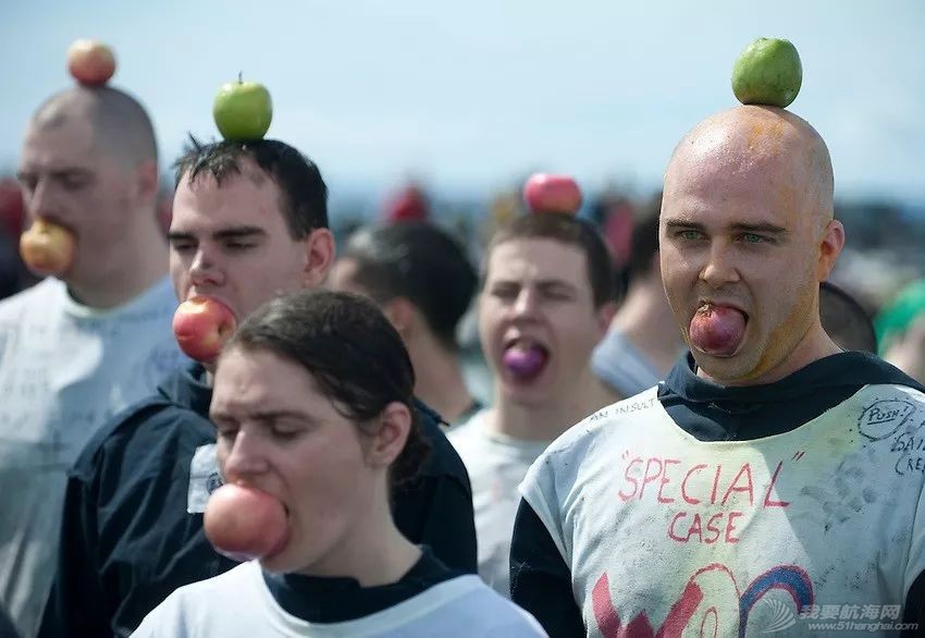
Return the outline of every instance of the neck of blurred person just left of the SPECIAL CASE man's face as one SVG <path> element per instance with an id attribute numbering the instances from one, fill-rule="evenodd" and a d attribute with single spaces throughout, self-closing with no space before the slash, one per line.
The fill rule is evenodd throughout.
<path id="1" fill-rule="evenodd" d="M 681 352 L 681 333 L 661 282 L 646 279 L 632 285 L 610 329 L 620 331 L 663 375 Z"/>

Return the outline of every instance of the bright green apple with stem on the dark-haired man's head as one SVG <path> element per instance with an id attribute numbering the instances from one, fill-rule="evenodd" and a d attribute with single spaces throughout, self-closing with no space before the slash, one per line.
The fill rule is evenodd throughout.
<path id="1" fill-rule="evenodd" d="M 256 82 L 223 84 L 212 106 L 212 116 L 222 137 L 246 142 L 262 139 L 273 119 L 270 91 Z"/>

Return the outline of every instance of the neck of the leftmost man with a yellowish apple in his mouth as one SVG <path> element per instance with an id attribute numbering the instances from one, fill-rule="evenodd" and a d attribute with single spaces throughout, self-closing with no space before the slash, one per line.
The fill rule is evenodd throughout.
<path id="1" fill-rule="evenodd" d="M 166 240 L 153 211 L 150 216 L 145 214 L 144 220 L 139 222 L 141 228 L 132 229 L 120 238 L 119 250 L 108 260 L 108 268 L 92 275 L 65 280 L 67 290 L 77 302 L 100 309 L 121 306 L 166 274 Z"/>

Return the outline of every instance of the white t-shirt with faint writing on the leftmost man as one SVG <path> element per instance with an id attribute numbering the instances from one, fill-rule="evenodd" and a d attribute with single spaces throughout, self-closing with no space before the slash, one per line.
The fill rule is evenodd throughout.
<path id="1" fill-rule="evenodd" d="M 57 565 L 65 471 L 94 431 L 185 358 L 164 278 L 95 310 L 49 278 L 0 302 L 0 605 L 35 634 Z"/>

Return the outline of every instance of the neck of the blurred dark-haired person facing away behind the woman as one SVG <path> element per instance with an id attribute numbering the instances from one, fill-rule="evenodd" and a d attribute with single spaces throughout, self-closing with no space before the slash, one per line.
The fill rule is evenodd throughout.
<path id="1" fill-rule="evenodd" d="M 415 394 L 455 424 L 472 405 L 458 357 L 429 334 L 406 343 L 416 371 Z"/>

